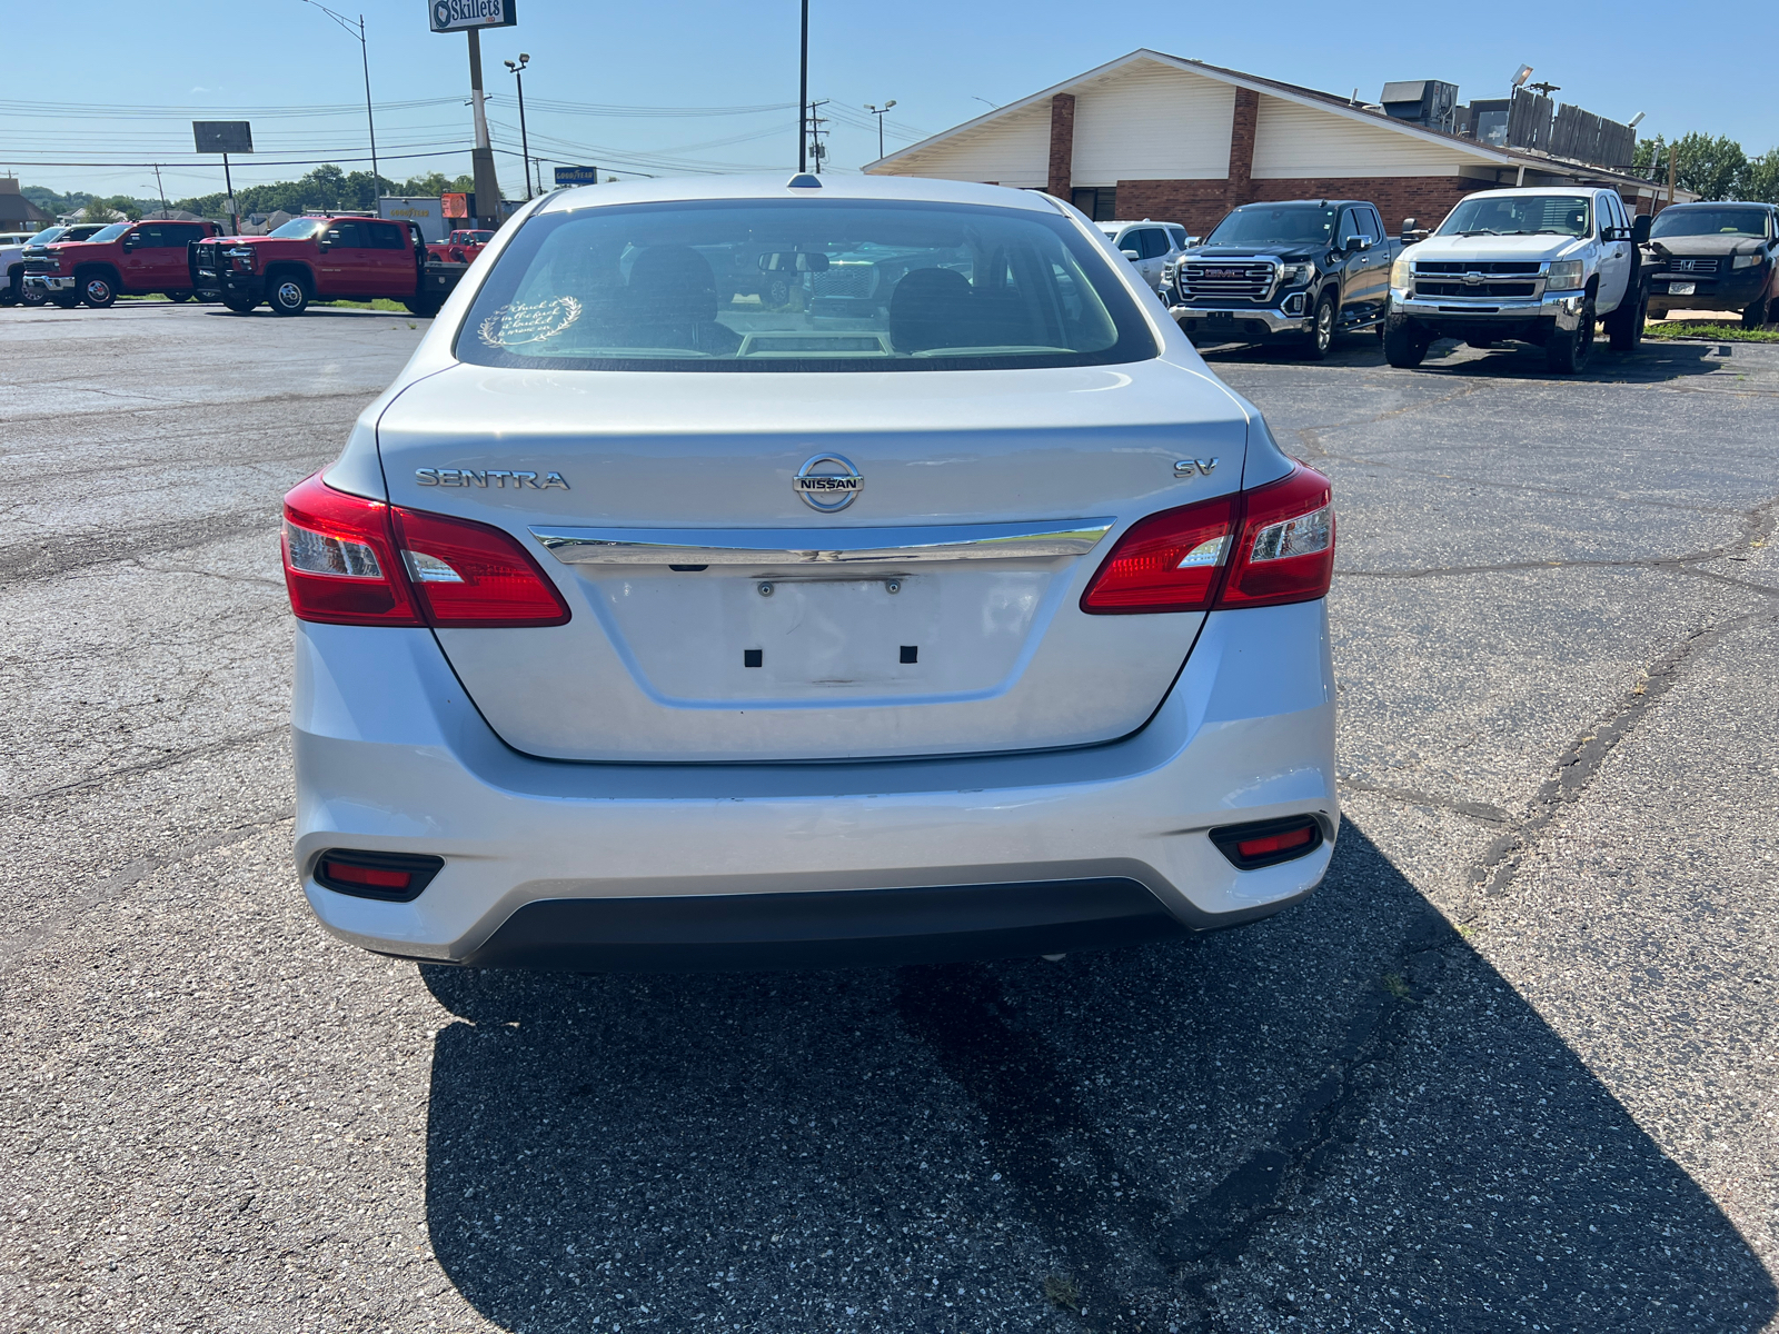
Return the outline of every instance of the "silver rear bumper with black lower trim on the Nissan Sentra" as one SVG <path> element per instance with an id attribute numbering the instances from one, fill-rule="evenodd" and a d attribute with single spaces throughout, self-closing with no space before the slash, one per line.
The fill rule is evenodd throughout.
<path id="1" fill-rule="evenodd" d="M 1078 751 L 582 765 L 507 749 L 429 631 L 301 624 L 297 866 L 336 936 L 546 968 L 991 957 L 1236 925 L 1322 880 L 1340 820 L 1324 603 L 1219 612 L 1147 727 Z M 1238 872 L 1213 827 L 1313 815 Z M 327 848 L 445 859 L 413 902 L 322 888 Z"/>

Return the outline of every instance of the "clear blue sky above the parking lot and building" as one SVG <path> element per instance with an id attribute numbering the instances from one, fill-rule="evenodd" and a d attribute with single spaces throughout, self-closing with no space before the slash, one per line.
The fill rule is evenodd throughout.
<path id="1" fill-rule="evenodd" d="M 431 34 L 425 0 L 333 0 L 333 7 L 366 16 L 384 176 L 468 171 L 464 37 Z M 502 60 L 519 52 L 532 57 L 525 91 L 534 155 L 646 174 L 795 164 L 795 0 L 518 0 L 518 12 L 516 28 L 484 36 L 496 162 L 509 196 L 521 192 L 518 110 Z M 1683 30 L 1701 36 L 1679 41 Z M 895 148 L 1137 46 L 1331 92 L 1357 87 L 1373 100 L 1393 78 L 1446 78 L 1464 100 L 1501 96 L 1525 60 L 1535 80 L 1562 85 L 1560 101 L 1614 119 L 1647 112 L 1644 135 L 1708 130 L 1758 153 L 1779 144 L 1775 39 L 1774 5 L 1647 0 L 1445 7 L 813 0 L 809 92 L 833 98 L 852 121 L 836 123 L 831 137 L 831 169 L 850 171 L 877 157 L 866 101 L 897 100 L 888 123 Z M 28 185 L 149 197 L 155 176 L 146 167 L 36 164 L 192 162 L 190 119 L 253 119 L 260 153 L 240 162 L 237 185 L 306 171 L 274 158 L 343 162 L 366 153 L 358 41 L 302 0 L 21 5 L 7 18 L 7 48 L 14 57 L 0 80 L 0 171 Z M 84 55 L 18 57 L 28 52 Z M 164 171 L 169 197 L 217 190 L 221 174 Z"/>

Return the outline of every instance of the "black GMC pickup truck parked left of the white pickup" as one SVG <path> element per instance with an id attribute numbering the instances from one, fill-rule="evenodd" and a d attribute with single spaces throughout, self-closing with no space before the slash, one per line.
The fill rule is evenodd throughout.
<path id="1" fill-rule="evenodd" d="M 1320 361 L 1336 333 L 1381 327 L 1398 251 L 1363 199 L 1242 205 L 1163 270 L 1162 293 L 1188 338 L 1290 340 Z"/>

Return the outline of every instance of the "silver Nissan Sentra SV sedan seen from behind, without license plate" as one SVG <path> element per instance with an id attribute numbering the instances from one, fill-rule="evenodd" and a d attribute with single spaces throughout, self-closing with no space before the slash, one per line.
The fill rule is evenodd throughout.
<path id="1" fill-rule="evenodd" d="M 1329 482 L 1044 194 L 546 196 L 283 555 L 297 866 L 370 950 L 1059 953 L 1329 864 Z"/>

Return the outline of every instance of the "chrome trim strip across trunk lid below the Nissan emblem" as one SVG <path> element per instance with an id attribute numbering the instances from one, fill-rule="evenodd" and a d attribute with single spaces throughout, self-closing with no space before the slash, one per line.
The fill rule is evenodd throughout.
<path id="1" fill-rule="evenodd" d="M 532 528 L 566 566 L 845 566 L 1042 560 L 1092 551 L 1115 519 L 934 528 Z M 813 546 L 811 542 L 820 542 Z"/>

